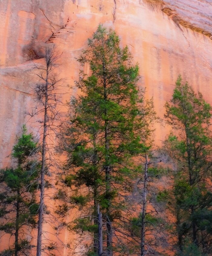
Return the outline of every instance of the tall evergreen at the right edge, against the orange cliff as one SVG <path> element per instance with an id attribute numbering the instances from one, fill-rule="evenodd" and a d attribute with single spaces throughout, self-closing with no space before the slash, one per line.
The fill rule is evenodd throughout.
<path id="1" fill-rule="evenodd" d="M 195 94 L 187 83 L 182 83 L 180 76 L 165 107 L 167 123 L 177 130 L 165 145 L 176 163 L 174 188 L 167 200 L 176 218 L 178 250 L 182 254 L 196 248 L 200 255 L 210 254 L 212 193 L 207 183 L 212 166 L 212 109 L 201 93 Z"/>

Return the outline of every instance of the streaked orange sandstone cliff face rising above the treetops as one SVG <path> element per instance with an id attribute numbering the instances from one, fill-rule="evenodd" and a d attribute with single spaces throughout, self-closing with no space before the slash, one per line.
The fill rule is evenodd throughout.
<path id="1" fill-rule="evenodd" d="M 160 117 L 179 74 L 212 104 L 211 0 L 0 3 L 0 167 L 11 164 L 10 158 L 5 157 L 28 120 L 25 112 L 34 106 L 31 87 L 38 79 L 34 63 L 42 62 L 45 43 L 55 43 L 63 52 L 58 73 L 66 78 L 65 85 L 74 85 L 80 68 L 75 57 L 99 23 L 115 29 L 121 45 L 128 45 L 134 62 L 139 63 L 139 85 L 146 88 L 147 98 L 154 98 Z M 64 92 L 68 92 L 67 86 Z M 70 93 L 77 92 L 73 88 Z M 33 128 L 33 123 L 30 126 Z M 168 129 L 164 123 L 156 125 L 156 144 Z"/>

